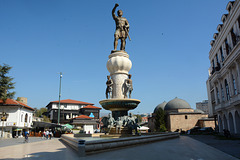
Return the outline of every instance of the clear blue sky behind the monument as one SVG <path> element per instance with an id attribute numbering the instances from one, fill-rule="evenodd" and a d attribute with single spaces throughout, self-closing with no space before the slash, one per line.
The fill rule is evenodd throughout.
<path id="1" fill-rule="evenodd" d="M 130 24 L 134 113 L 175 97 L 207 99 L 208 53 L 228 0 L 1 0 L 0 64 L 13 67 L 15 97 L 33 108 L 62 99 L 99 106 L 113 50 L 115 3 Z M 102 110 L 102 112 L 106 112 Z"/>

